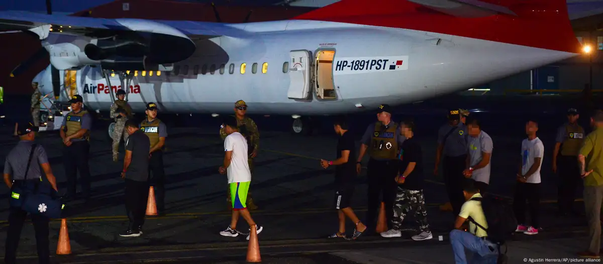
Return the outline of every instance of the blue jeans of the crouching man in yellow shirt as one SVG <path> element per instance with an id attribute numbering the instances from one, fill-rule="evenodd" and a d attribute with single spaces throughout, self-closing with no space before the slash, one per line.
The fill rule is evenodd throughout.
<path id="1" fill-rule="evenodd" d="M 456 229 L 452 230 L 450 231 L 450 244 L 454 251 L 456 264 L 467 264 L 465 248 L 473 252 L 471 263 L 496 264 L 498 245 L 477 237 L 472 233 Z"/>

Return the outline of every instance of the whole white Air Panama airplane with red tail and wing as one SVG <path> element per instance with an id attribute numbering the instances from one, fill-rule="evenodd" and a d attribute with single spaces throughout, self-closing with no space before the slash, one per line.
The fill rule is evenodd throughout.
<path id="1" fill-rule="evenodd" d="M 3 11 L 3 28 L 41 40 L 34 57 L 51 66 L 37 78 L 60 102 L 78 93 L 107 111 L 128 87 L 136 112 L 223 114 L 243 99 L 249 114 L 292 115 L 298 133 L 308 116 L 421 101 L 581 50 L 565 0 L 342 0 L 242 24 Z"/>

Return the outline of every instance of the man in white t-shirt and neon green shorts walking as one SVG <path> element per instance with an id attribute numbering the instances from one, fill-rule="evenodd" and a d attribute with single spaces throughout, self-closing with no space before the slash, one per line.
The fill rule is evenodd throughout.
<path id="1" fill-rule="evenodd" d="M 219 172 L 220 174 L 224 174 L 225 172 L 228 174 L 233 210 L 229 227 L 221 231 L 220 234 L 232 237 L 239 236 L 239 234 L 244 235 L 244 233 L 236 230 L 236 222 L 239 220 L 239 215 L 245 218 L 250 227 L 255 225 L 257 234 L 259 234 L 264 228 L 256 225 L 245 205 L 247 191 L 251 183 L 251 171 L 247 162 L 247 140 L 239 133 L 234 116 L 228 116 L 224 119 L 223 126 L 228 136 L 224 139 L 224 151 L 226 151 L 226 155 L 224 156 L 224 165 L 219 168 Z M 247 236 L 247 240 L 249 240 L 249 235 Z"/>

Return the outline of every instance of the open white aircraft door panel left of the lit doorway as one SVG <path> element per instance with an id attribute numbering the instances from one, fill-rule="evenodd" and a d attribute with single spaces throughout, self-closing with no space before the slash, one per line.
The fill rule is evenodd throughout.
<path id="1" fill-rule="evenodd" d="M 310 95 L 310 75 L 312 74 L 312 61 L 310 52 L 291 51 L 289 61 L 289 90 L 287 97 L 291 99 L 308 99 Z"/>

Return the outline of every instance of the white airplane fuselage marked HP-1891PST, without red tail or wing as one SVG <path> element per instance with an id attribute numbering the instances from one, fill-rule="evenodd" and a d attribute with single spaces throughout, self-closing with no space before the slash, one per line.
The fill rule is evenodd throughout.
<path id="1" fill-rule="evenodd" d="M 229 27 L 245 33 L 209 39 L 189 35 L 197 50 L 174 63 L 169 74 L 143 76 L 137 71 L 128 89 L 133 110 L 143 112 L 147 102 L 156 102 L 166 113 L 232 113 L 233 103 L 243 99 L 250 114 L 350 113 L 469 89 L 577 55 L 338 22 L 286 20 Z M 42 89 L 49 93 L 46 72 L 40 81 L 48 83 Z M 109 110 L 121 85 L 118 75 L 110 78 L 110 92 L 101 69 L 84 66 L 70 91 L 68 72 L 60 71 L 66 87 L 60 101 L 68 101 L 77 90 L 90 110 Z M 320 88 L 324 91 L 319 95 Z"/>

